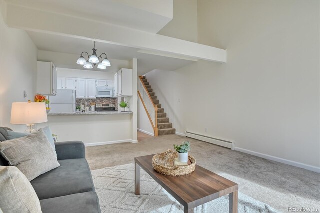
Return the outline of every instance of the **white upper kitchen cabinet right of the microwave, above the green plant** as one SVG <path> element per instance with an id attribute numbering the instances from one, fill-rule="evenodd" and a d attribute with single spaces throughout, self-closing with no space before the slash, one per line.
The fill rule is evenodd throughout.
<path id="1" fill-rule="evenodd" d="M 120 69 L 114 75 L 114 89 L 116 97 L 132 96 L 132 69 Z"/>

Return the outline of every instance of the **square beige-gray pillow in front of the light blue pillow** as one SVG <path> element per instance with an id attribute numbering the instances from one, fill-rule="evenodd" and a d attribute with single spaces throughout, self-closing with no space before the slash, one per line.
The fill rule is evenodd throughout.
<path id="1" fill-rule="evenodd" d="M 58 166 L 56 153 L 42 129 L 30 135 L 0 142 L 0 153 L 29 181 Z"/>

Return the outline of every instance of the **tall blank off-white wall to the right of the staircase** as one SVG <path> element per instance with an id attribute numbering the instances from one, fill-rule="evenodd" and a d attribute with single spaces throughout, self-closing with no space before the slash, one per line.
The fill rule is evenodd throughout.
<path id="1" fill-rule="evenodd" d="M 226 48 L 228 59 L 174 71 L 177 132 L 231 140 L 241 151 L 320 171 L 319 4 L 198 1 L 199 43 Z M 159 79 L 156 94 L 168 90 L 166 73 L 147 74 L 152 87 Z"/>

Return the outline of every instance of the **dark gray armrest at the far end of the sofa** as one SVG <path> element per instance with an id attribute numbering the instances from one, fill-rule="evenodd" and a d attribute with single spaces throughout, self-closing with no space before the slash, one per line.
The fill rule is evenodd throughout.
<path id="1" fill-rule="evenodd" d="M 58 160 L 85 158 L 85 146 L 82 141 L 63 141 L 54 144 Z"/>

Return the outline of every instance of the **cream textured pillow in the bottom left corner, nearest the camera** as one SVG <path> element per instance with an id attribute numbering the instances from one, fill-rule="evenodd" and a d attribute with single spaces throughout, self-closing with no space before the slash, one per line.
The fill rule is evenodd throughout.
<path id="1" fill-rule="evenodd" d="M 0 166 L 0 212 L 42 213 L 31 183 L 16 167 Z"/>

